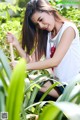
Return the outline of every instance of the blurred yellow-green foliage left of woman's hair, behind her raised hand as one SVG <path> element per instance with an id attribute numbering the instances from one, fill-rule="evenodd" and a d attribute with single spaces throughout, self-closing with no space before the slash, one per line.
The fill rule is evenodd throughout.
<path id="1" fill-rule="evenodd" d="M 0 3 L 0 48 L 10 59 L 9 45 L 6 43 L 7 32 L 12 32 L 17 39 L 21 39 L 22 22 L 24 9 L 11 4 Z M 14 49 L 15 59 L 18 53 Z"/>

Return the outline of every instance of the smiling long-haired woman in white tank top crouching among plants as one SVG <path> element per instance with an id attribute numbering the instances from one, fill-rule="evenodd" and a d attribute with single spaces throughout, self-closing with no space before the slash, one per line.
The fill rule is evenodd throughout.
<path id="1" fill-rule="evenodd" d="M 25 52 L 11 33 L 7 34 L 7 39 L 29 62 L 28 70 L 52 68 L 53 76 L 63 84 L 69 84 L 79 74 L 78 29 L 60 16 L 47 0 L 31 0 L 27 4 L 22 30 L 22 48 Z M 46 59 L 39 61 L 43 55 Z M 42 88 L 42 91 L 46 89 Z M 58 97 L 56 91 L 51 92 L 51 95 Z"/>

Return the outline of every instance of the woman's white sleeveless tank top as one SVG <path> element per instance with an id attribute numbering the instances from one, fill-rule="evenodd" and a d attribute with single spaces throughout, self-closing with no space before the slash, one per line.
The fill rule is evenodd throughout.
<path id="1" fill-rule="evenodd" d="M 54 67 L 53 71 L 53 75 L 56 76 L 62 83 L 70 83 L 70 81 L 80 72 L 79 31 L 73 23 L 64 22 L 58 34 L 53 39 L 50 39 L 51 33 L 48 33 L 46 57 L 50 58 L 50 48 L 53 45 L 57 47 L 63 32 L 70 26 L 75 30 L 76 37 L 72 41 L 70 48 L 68 49 L 60 64 L 57 67 Z"/>

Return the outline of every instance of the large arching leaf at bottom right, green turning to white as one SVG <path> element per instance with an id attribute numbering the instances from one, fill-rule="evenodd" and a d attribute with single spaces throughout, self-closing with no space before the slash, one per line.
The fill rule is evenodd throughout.
<path id="1" fill-rule="evenodd" d="M 39 120 L 62 120 L 58 118 L 62 113 L 69 120 L 80 120 L 80 107 L 70 102 L 51 102 L 43 108 Z"/>

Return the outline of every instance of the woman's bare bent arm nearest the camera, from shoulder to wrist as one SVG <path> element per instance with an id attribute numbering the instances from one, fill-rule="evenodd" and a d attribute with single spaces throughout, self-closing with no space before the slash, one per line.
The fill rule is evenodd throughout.
<path id="1" fill-rule="evenodd" d="M 54 53 L 54 56 L 44 61 L 29 63 L 27 64 L 27 69 L 38 70 L 57 66 L 65 56 L 74 38 L 75 38 L 74 29 L 72 27 L 67 28 L 61 37 L 61 41 Z"/>

